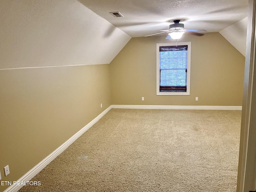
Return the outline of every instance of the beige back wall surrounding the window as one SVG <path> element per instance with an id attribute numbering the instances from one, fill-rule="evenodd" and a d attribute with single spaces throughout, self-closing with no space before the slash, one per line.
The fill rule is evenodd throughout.
<path id="1" fill-rule="evenodd" d="M 190 95 L 157 96 L 156 43 L 170 41 L 151 36 L 132 38 L 126 44 L 110 63 L 112 104 L 242 105 L 245 58 L 219 33 L 182 37 L 180 42 L 192 44 Z"/>

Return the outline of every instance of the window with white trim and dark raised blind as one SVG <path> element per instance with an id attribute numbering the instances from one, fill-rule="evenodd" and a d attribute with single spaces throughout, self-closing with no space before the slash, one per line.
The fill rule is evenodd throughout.
<path id="1" fill-rule="evenodd" d="M 156 44 L 157 95 L 190 94 L 190 49 L 191 42 Z"/>

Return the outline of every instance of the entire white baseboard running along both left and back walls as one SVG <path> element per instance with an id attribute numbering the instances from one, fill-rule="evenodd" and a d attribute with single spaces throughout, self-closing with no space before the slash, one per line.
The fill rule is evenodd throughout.
<path id="1" fill-rule="evenodd" d="M 242 106 L 174 106 L 174 105 L 111 105 L 101 114 L 99 114 L 94 120 L 84 126 L 76 134 L 74 134 L 70 139 L 68 139 L 64 144 L 59 146 L 50 155 L 44 158 L 36 166 L 34 166 L 30 171 L 28 171 L 24 176 L 22 176 L 17 182 L 27 182 L 30 181 L 36 174 L 38 174 L 43 168 L 45 168 L 52 160 L 54 160 L 58 155 L 60 155 L 68 146 L 70 146 L 76 139 L 78 139 L 84 132 L 86 132 L 90 127 L 92 127 L 100 118 L 102 118 L 110 109 L 181 109 L 181 110 L 242 110 Z M 4 192 L 17 192 L 22 185 L 11 185 Z"/>

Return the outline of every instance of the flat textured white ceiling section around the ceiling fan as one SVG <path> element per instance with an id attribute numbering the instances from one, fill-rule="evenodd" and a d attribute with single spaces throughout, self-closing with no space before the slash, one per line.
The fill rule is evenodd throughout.
<path id="1" fill-rule="evenodd" d="M 219 32 L 248 14 L 248 0 L 78 0 L 131 37 L 169 28 L 182 18 L 186 29 Z M 115 18 L 109 12 L 120 12 Z"/>

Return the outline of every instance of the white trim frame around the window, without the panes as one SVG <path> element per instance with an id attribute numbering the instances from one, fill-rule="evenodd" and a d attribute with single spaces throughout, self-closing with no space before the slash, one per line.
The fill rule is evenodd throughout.
<path id="1" fill-rule="evenodd" d="M 187 91 L 186 92 L 160 92 L 160 69 L 159 69 L 159 48 L 160 46 L 176 46 L 175 43 L 157 43 L 156 44 L 156 95 L 190 95 L 190 60 L 191 60 L 191 42 L 179 42 L 178 45 L 188 46 L 188 68 L 187 68 Z"/>

